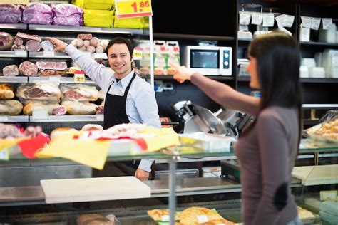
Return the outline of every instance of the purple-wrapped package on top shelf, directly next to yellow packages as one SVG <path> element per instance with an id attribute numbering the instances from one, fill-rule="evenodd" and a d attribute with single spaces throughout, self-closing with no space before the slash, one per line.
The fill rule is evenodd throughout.
<path id="1" fill-rule="evenodd" d="M 53 7 L 53 24 L 63 26 L 82 26 L 83 10 L 73 4 L 57 4 Z"/>

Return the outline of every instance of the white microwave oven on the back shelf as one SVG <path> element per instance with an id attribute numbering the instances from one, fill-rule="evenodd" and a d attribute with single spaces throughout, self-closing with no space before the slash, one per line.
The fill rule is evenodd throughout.
<path id="1" fill-rule="evenodd" d="M 185 46 L 183 65 L 203 75 L 232 75 L 232 48 Z"/>

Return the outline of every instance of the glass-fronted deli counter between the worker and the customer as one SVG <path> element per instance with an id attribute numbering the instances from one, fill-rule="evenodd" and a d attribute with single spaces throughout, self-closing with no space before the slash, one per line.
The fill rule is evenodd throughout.
<path id="1" fill-rule="evenodd" d="M 321 211 L 320 205 L 323 202 L 337 201 L 337 156 L 338 143 L 312 139 L 301 142 L 296 167 L 292 173 L 292 192 L 299 204 L 299 216 L 304 224 L 326 221 L 327 214 Z M 225 219 L 240 223 L 241 186 L 235 179 L 224 176 L 185 178 L 178 177 L 175 173 L 180 162 L 192 160 L 194 157 L 197 161 L 235 159 L 232 147 L 205 151 L 196 147 L 181 146 L 138 155 L 111 155 L 107 161 L 151 158 L 157 162 L 168 162 L 170 167 L 169 179 L 140 182 L 148 187 L 148 195 L 145 194 L 146 191 L 138 195 L 137 188 L 142 188 L 142 184 L 135 184 L 130 188 L 129 194 L 121 195 L 118 189 L 123 187 L 114 183 L 116 180 L 111 181 L 113 177 L 95 181 L 97 178 L 91 178 L 91 167 L 83 164 L 61 158 L 13 157 L 0 164 L 0 224 L 76 224 L 78 216 L 83 214 L 99 214 L 105 218 L 108 216 L 107 218 L 113 218 L 112 224 L 157 224 L 148 216 L 147 211 L 168 208 L 182 211 L 191 206 L 215 209 Z M 82 186 L 79 187 L 76 186 L 78 184 L 73 184 L 73 189 L 76 190 L 71 194 L 78 195 L 77 199 L 75 196 L 63 196 L 61 202 L 53 202 L 47 199 L 43 182 L 56 180 L 84 180 L 86 183 L 80 184 Z M 101 184 L 98 184 L 99 182 Z M 61 183 L 66 184 L 67 182 Z M 54 185 L 56 192 L 57 185 Z M 103 195 L 106 190 L 104 186 L 110 187 L 111 192 L 117 189 L 118 197 Z M 63 193 L 61 188 L 59 190 Z M 89 192 L 91 196 L 88 196 Z M 100 195 L 101 197 L 98 197 Z"/>

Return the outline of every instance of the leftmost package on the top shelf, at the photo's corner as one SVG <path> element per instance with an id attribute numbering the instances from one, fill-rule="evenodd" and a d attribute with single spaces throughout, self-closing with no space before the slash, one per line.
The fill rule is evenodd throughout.
<path id="1" fill-rule="evenodd" d="M 21 17 L 20 5 L 0 3 L 0 23 L 19 23 Z"/>

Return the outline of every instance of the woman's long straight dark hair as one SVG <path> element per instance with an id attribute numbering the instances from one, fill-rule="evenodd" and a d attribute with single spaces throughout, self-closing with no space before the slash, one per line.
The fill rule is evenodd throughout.
<path id="1" fill-rule="evenodd" d="M 287 33 L 273 31 L 257 36 L 249 46 L 257 59 L 257 75 L 262 99 L 260 111 L 277 105 L 297 108 L 299 140 L 302 133 L 302 88 L 299 81 L 300 51 L 297 40 Z"/>

